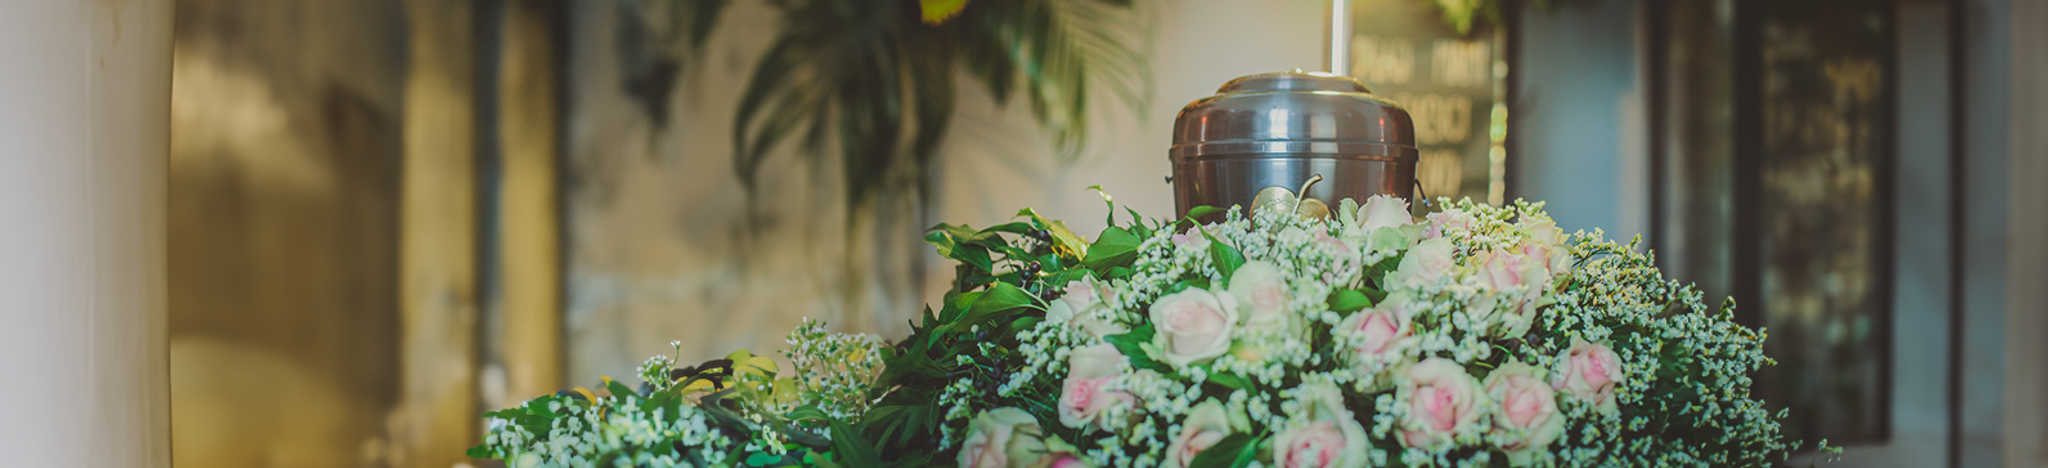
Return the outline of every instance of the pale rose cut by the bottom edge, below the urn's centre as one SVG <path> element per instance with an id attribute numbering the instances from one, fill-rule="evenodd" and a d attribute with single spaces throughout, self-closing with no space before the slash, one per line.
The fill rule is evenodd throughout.
<path id="1" fill-rule="evenodd" d="M 1292 427 L 1274 435 L 1274 466 L 1282 468 L 1364 468 L 1366 427 L 1343 409 L 1343 392 L 1333 384 L 1298 386 L 1300 413 Z"/>

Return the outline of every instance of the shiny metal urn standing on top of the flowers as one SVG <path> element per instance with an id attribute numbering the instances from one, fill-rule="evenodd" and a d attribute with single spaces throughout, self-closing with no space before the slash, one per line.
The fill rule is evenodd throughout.
<path id="1" fill-rule="evenodd" d="M 1411 198 L 1419 159 L 1407 110 L 1358 80 L 1298 69 L 1237 78 L 1190 102 L 1174 119 L 1167 157 L 1178 217 L 1204 204 L 1253 208 L 1276 196 L 1321 215 L 1343 198 Z M 1217 219 L 1221 213 L 1204 221 Z"/>

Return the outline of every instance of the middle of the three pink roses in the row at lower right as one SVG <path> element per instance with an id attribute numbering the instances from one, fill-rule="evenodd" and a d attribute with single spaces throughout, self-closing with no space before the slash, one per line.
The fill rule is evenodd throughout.
<path id="1" fill-rule="evenodd" d="M 1544 372 L 1507 362 L 1487 374 L 1487 396 L 1497 401 L 1493 433 L 1513 466 L 1528 466 L 1536 452 L 1565 433 L 1565 415 L 1556 411 L 1556 392 L 1544 382 Z"/>

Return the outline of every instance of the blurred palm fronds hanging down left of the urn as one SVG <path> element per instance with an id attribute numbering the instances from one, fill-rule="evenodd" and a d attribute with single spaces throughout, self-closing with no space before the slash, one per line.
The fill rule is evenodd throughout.
<path id="1" fill-rule="evenodd" d="M 954 74 L 997 102 L 1024 92 L 1063 155 L 1087 141 L 1100 86 L 1143 108 L 1149 31 L 1130 0 L 967 2 L 926 25 L 920 2 L 784 0 L 782 31 L 754 67 L 735 114 L 735 170 L 752 190 L 772 149 L 793 137 L 817 155 L 836 145 L 846 200 L 928 192 L 956 102 Z"/>

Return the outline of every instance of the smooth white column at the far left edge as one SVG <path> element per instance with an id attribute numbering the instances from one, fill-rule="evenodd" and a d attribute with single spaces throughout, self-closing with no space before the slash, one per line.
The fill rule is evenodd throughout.
<path id="1" fill-rule="evenodd" d="M 168 0 L 0 2 L 0 464 L 170 466 Z"/>

